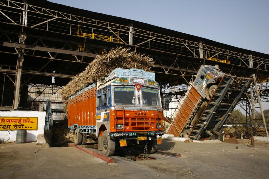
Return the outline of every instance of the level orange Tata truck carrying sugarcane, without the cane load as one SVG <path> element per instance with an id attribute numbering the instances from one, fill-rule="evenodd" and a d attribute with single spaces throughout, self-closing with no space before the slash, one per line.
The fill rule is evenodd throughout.
<path id="1" fill-rule="evenodd" d="M 75 144 L 98 140 L 98 149 L 106 156 L 125 146 L 156 152 L 164 134 L 162 123 L 155 73 L 141 69 L 116 68 L 68 100 L 68 131 L 74 133 Z"/>

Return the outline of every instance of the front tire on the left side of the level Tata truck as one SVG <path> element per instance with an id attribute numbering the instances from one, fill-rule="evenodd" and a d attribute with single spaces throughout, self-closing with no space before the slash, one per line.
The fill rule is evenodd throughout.
<path id="1" fill-rule="evenodd" d="M 107 130 L 103 133 L 102 139 L 102 151 L 104 155 L 112 156 L 115 152 L 115 141 L 110 139 Z"/>

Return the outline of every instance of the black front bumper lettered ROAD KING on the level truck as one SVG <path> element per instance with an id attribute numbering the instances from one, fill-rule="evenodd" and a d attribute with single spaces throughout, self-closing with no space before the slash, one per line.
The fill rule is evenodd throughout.
<path id="1" fill-rule="evenodd" d="M 162 136 L 164 131 L 150 131 L 150 132 L 115 132 L 110 133 L 112 139 L 136 139 L 137 137 L 155 137 Z"/>

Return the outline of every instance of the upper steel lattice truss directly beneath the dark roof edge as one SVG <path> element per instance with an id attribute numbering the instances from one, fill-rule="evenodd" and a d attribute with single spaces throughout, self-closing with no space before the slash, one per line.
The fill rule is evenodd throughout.
<path id="1" fill-rule="evenodd" d="M 214 46 L 162 35 L 133 26 L 125 26 L 110 22 L 99 21 L 87 17 L 58 12 L 21 2 L 1 1 L 0 22 L 13 25 L 25 25 L 34 29 L 47 30 L 61 34 L 77 35 L 78 25 L 82 31 L 92 34 L 99 33 L 119 38 L 123 44 L 145 49 L 154 49 L 160 52 L 169 52 L 175 55 L 203 58 L 203 54 L 210 53 L 217 59 L 226 59 L 227 56 L 233 65 L 240 65 L 259 70 L 267 70 L 268 59 L 259 58 L 251 54 L 243 54 Z M 130 37 L 132 43 L 129 43 Z M 83 45 L 83 44 L 81 44 Z M 206 55 L 208 56 L 208 55 Z M 165 64 L 163 64 L 165 66 Z"/>

